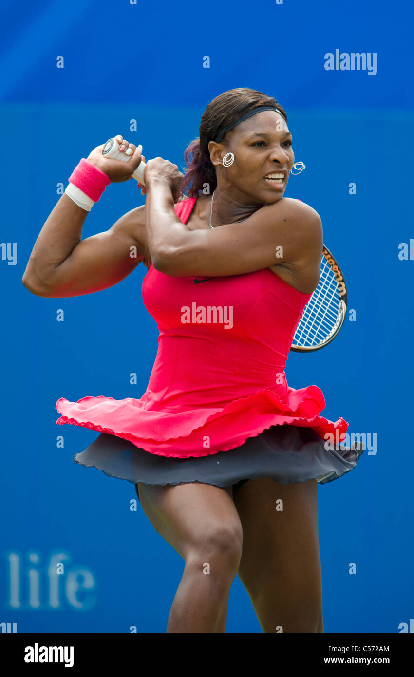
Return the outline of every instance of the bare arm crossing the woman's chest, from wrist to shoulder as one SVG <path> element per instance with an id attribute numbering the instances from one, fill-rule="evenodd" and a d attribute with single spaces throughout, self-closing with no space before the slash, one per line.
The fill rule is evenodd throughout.
<path id="1" fill-rule="evenodd" d="M 145 238 L 154 268 L 174 276 L 228 276 L 273 265 L 319 271 L 323 232 L 319 214 L 305 202 L 282 198 L 241 223 L 189 230 L 173 213 L 168 184 L 147 190 Z"/>

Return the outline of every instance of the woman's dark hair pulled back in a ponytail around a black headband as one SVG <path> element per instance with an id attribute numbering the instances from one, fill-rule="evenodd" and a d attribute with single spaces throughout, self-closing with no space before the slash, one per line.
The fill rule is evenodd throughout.
<path id="1" fill-rule="evenodd" d="M 275 106 L 285 121 L 288 121 L 285 110 L 272 96 L 248 87 L 229 89 L 208 104 L 198 129 L 200 136 L 193 139 L 184 152 L 186 167 L 183 167 L 185 175 L 181 182 L 182 194 L 186 194 L 189 198 L 198 197 L 206 183 L 210 186 L 210 192 L 216 188 L 216 168 L 210 160 L 208 144 L 214 141 L 222 129 L 229 127 L 244 113 L 259 106 Z"/>

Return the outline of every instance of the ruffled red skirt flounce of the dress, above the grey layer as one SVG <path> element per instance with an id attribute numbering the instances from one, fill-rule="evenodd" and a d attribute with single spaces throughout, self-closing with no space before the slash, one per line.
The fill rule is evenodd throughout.
<path id="1" fill-rule="evenodd" d="M 77 402 L 61 397 L 56 409 L 62 416 L 57 424 L 74 424 L 116 435 L 150 454 L 172 458 L 200 457 L 239 447 L 251 437 L 275 425 L 311 428 L 321 440 L 340 443 L 348 423 L 321 416 L 325 399 L 315 385 L 288 387 L 283 399 L 260 389 L 220 408 L 163 408 L 145 397 L 114 399 L 99 395 Z"/>

